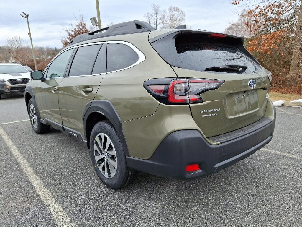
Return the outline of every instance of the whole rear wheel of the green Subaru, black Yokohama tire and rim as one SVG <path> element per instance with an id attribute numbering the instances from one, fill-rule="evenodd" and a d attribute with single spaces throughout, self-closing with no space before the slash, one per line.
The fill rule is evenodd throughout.
<path id="1" fill-rule="evenodd" d="M 134 170 L 127 166 L 123 145 L 109 120 L 98 122 L 90 136 L 93 167 L 104 185 L 120 189 L 133 181 Z"/>

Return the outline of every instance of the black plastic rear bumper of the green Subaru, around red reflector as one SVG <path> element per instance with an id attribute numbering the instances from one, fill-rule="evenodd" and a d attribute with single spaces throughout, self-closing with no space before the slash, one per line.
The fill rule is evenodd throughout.
<path id="1" fill-rule="evenodd" d="M 258 130 L 218 145 L 209 144 L 198 130 L 176 131 L 160 143 L 150 159 L 126 157 L 126 160 L 130 168 L 146 173 L 175 179 L 199 178 L 260 150 L 271 141 L 274 129 L 275 118 Z M 190 164 L 199 164 L 200 170 L 186 172 L 186 166 Z"/>

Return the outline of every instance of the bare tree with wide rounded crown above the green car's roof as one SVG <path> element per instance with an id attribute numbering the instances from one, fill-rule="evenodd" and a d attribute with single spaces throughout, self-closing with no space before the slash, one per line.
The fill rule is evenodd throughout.
<path id="1" fill-rule="evenodd" d="M 177 6 L 170 5 L 168 11 L 165 9 L 161 13 L 162 28 L 175 28 L 181 25 L 186 18 L 186 14 L 183 10 Z"/>

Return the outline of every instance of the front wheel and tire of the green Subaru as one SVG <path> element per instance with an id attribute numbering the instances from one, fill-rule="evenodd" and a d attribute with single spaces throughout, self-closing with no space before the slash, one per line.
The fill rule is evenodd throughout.
<path id="1" fill-rule="evenodd" d="M 33 98 L 28 102 L 28 115 L 29 120 L 31 121 L 31 127 L 35 133 L 42 134 L 50 130 L 50 125 L 40 122 L 40 114 Z"/>

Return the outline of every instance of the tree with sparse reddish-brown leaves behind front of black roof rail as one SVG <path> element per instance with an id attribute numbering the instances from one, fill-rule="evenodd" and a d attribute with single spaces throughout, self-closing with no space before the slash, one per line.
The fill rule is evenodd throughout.
<path id="1" fill-rule="evenodd" d="M 87 25 L 84 21 L 83 15 L 80 13 L 79 18 L 74 16 L 76 19 L 76 22 L 69 23 L 69 28 L 64 28 L 64 31 L 66 32 L 65 36 L 61 36 L 61 42 L 63 44 L 63 47 L 66 47 L 67 44 L 76 36 L 81 35 L 83 33 L 88 33 Z"/>

